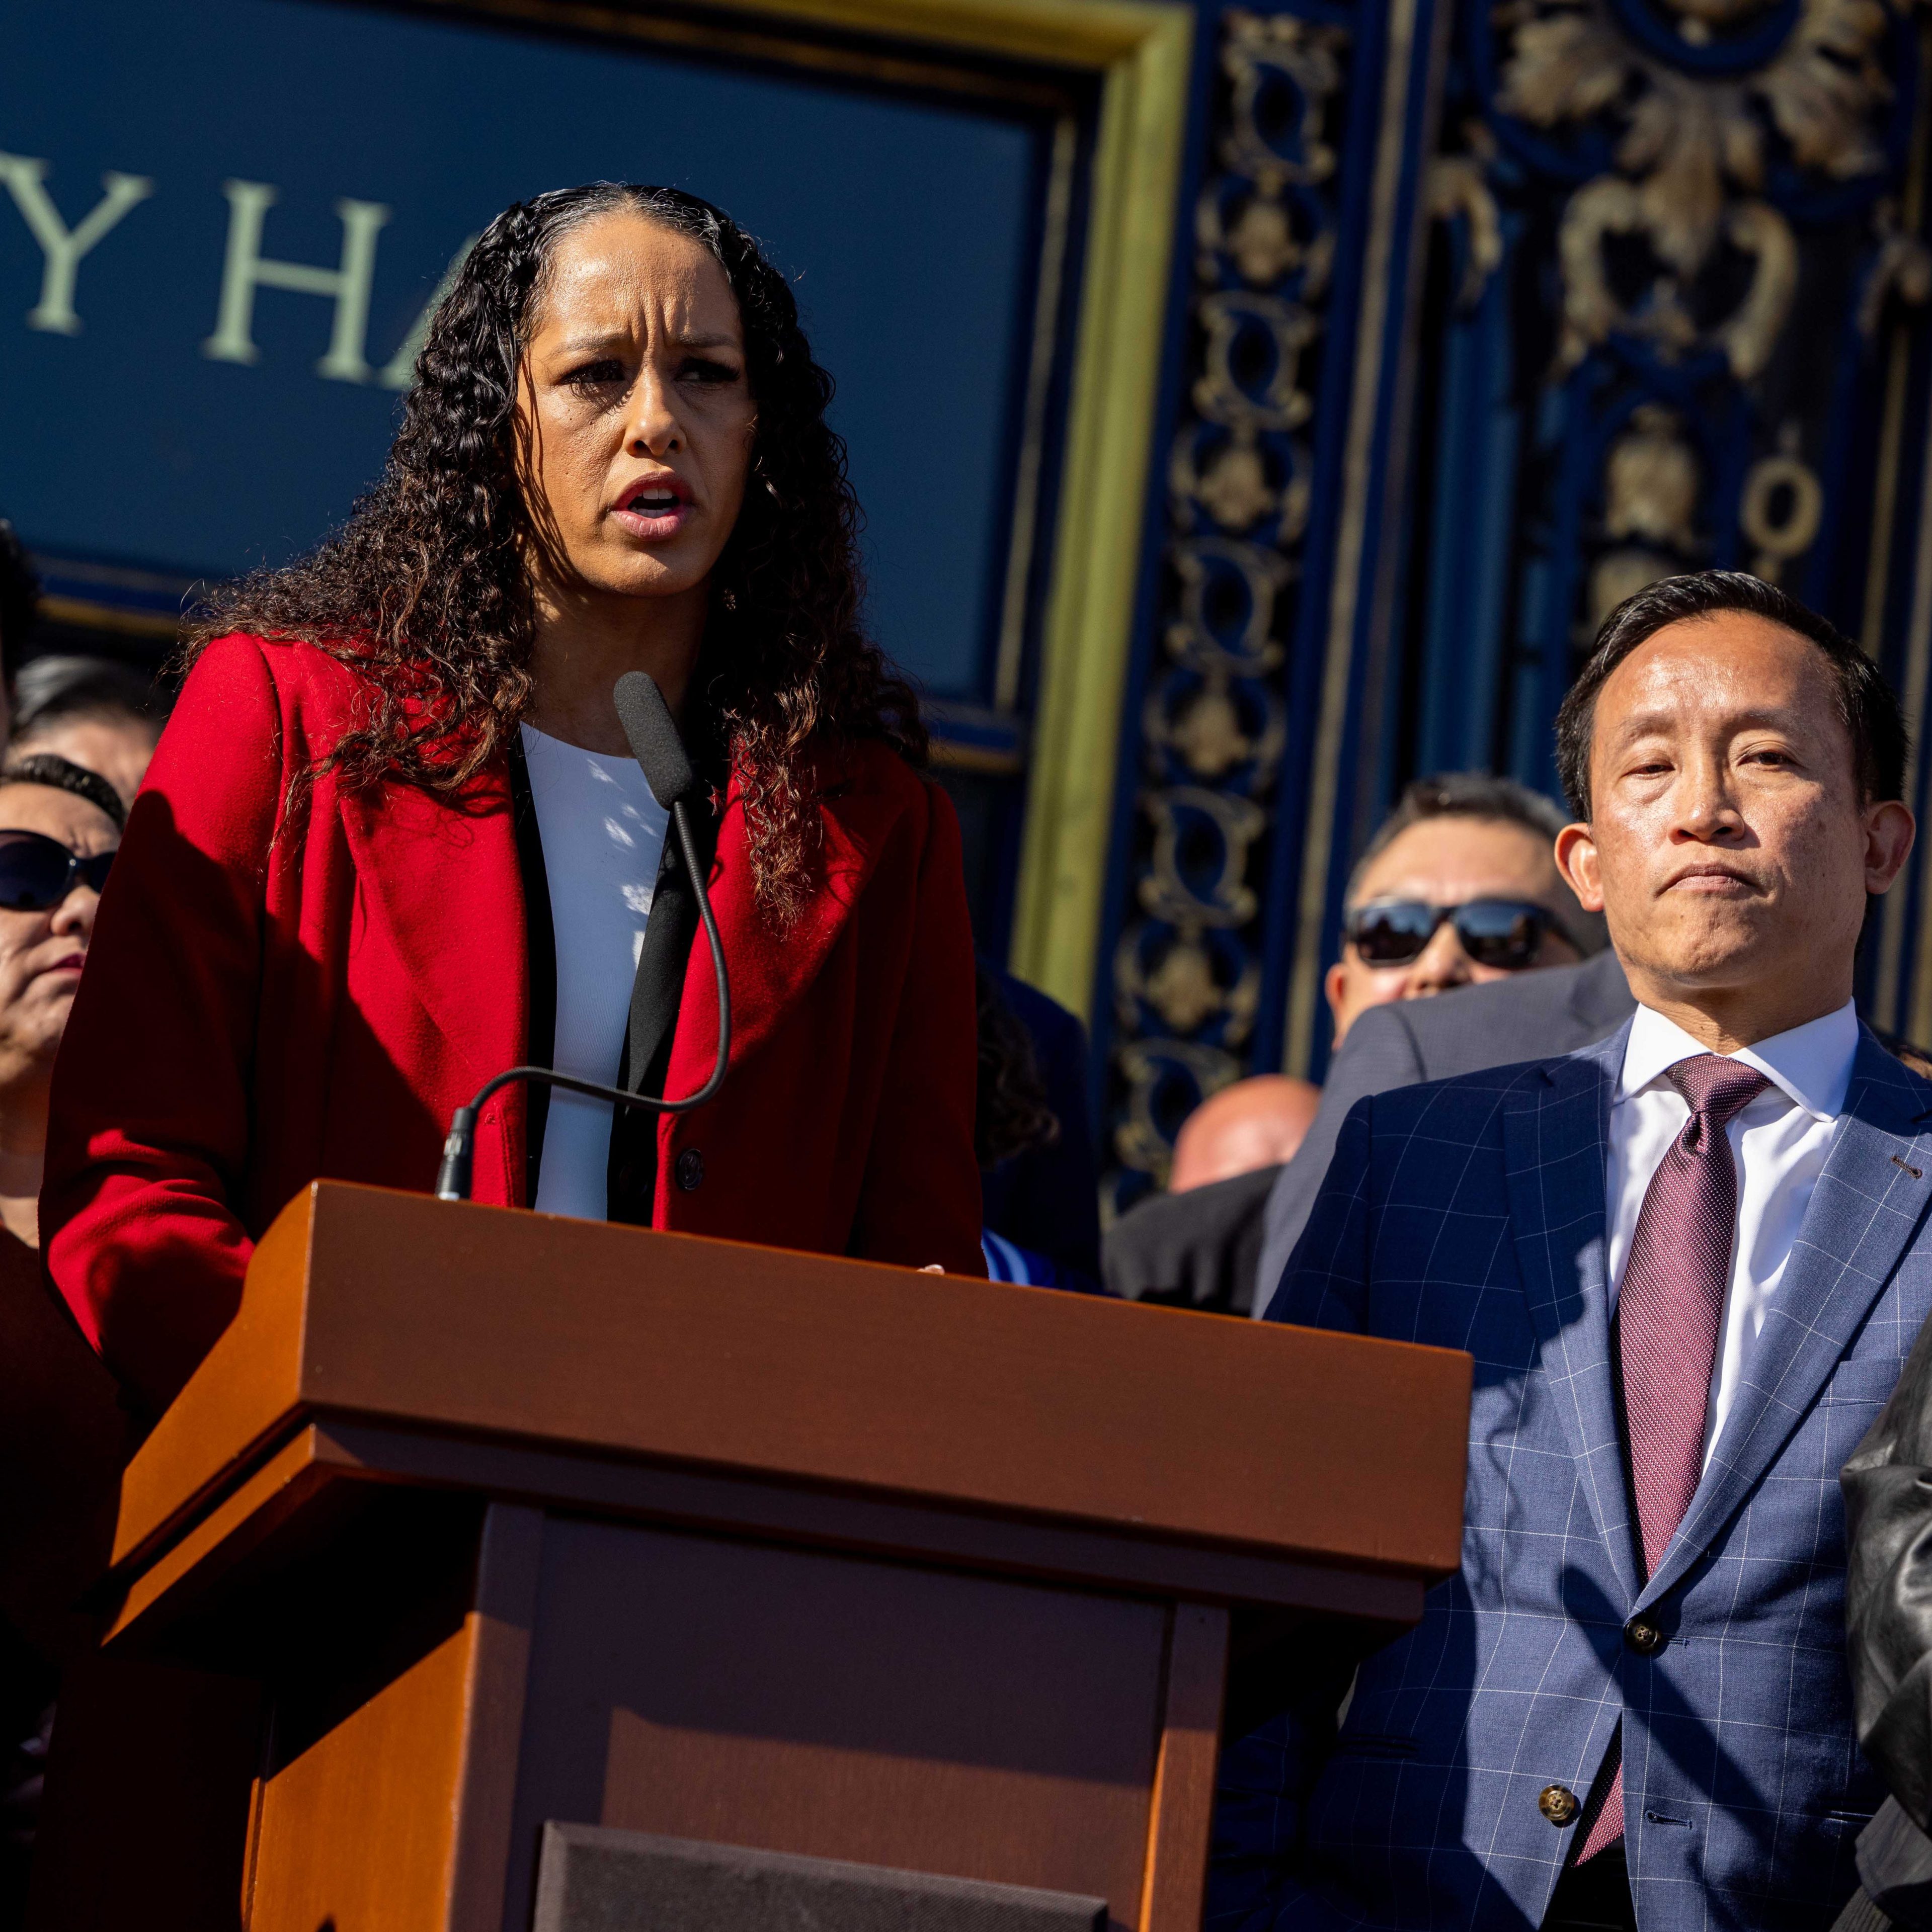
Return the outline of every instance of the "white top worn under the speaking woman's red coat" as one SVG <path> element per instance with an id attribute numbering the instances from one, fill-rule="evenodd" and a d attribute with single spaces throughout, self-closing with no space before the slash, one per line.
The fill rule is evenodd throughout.
<path id="1" fill-rule="evenodd" d="M 585 752 L 526 724 L 524 761 L 556 933 L 551 1065 L 614 1086 L 670 815 L 632 757 Z M 611 1101 L 551 1088 L 531 1206 L 603 1221 L 611 1213 L 609 1167 Z"/>

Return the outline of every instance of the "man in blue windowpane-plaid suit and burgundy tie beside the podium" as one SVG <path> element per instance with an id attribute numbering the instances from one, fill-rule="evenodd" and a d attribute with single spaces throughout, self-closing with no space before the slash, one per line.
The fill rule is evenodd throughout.
<path id="1" fill-rule="evenodd" d="M 1837 1470 L 1932 1310 L 1932 1082 L 1851 1005 L 1897 703 L 1779 591 L 1673 578 L 1559 763 L 1638 1010 L 1349 1115 L 1269 1320 L 1474 1354 L 1463 1569 L 1339 1729 L 1312 1654 L 1229 1743 L 1211 1932 L 1822 1932 L 1884 1797 Z"/>

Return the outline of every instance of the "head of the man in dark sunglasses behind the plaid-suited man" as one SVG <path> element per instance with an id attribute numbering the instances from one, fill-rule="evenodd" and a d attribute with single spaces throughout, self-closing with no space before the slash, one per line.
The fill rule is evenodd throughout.
<path id="1" fill-rule="evenodd" d="M 1327 974 L 1337 1043 L 1368 1007 L 1580 960 L 1584 914 L 1553 856 L 1565 823 L 1509 779 L 1410 784 L 1349 881 Z"/>

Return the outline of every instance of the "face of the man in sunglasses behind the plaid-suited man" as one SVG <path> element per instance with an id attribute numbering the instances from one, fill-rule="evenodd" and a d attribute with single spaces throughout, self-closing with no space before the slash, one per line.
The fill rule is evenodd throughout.
<path id="1" fill-rule="evenodd" d="M 1577 916 L 1577 902 L 1557 875 L 1549 842 L 1515 819 L 1420 819 L 1376 854 L 1350 898 L 1356 906 L 1376 898 L 1416 898 L 1426 906 L 1517 898 L 1555 914 L 1565 927 Z M 1578 956 L 1559 931 L 1549 931 L 1536 964 L 1573 966 Z M 1370 966 L 1347 945 L 1341 960 L 1327 972 L 1335 1039 L 1368 1007 L 1383 1007 L 1393 999 L 1428 999 L 1451 987 L 1507 978 L 1513 978 L 1507 970 L 1472 960 L 1447 920 L 1406 966 Z"/>

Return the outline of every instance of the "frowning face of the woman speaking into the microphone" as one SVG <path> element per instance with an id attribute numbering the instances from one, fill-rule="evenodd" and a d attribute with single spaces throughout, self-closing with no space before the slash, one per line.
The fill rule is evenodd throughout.
<path id="1" fill-rule="evenodd" d="M 757 410 L 717 257 L 641 214 L 564 234 L 524 355 L 524 489 L 564 589 L 699 591 L 738 522 Z"/>

